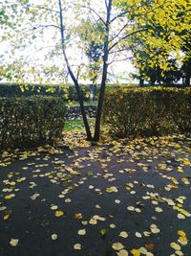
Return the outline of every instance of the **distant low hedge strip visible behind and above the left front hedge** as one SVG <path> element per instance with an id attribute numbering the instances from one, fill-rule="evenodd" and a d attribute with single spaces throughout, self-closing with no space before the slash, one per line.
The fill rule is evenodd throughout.
<path id="1" fill-rule="evenodd" d="M 81 95 L 84 101 L 90 99 L 91 87 L 81 85 Z M 38 85 L 38 84 L 18 84 L 0 83 L 0 97 L 22 97 L 22 96 L 58 96 L 65 100 L 77 101 L 77 94 L 74 85 Z"/>

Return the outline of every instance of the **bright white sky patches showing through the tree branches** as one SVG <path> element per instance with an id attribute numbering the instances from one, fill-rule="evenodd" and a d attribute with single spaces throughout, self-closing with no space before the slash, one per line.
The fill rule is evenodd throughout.
<path id="1" fill-rule="evenodd" d="M 43 4 L 43 1 L 47 2 L 47 0 L 42 0 L 40 2 L 40 4 Z M 17 2 L 17 1 L 15 1 L 15 2 Z M 37 0 L 31 0 L 30 2 L 33 6 L 39 5 L 39 1 L 37 1 Z M 97 6 L 99 7 L 98 12 L 100 11 L 100 13 L 101 13 L 103 2 L 104 2 L 103 0 L 92 1 L 93 7 L 94 7 L 94 5 L 96 6 L 96 10 L 97 10 Z M 68 12 L 64 12 L 64 14 L 65 14 L 67 21 L 70 20 L 70 21 L 74 22 L 74 13 L 72 11 L 69 10 Z M 41 24 L 48 25 L 48 24 L 50 24 L 50 22 L 48 20 L 47 22 L 43 22 Z M 36 22 L 36 25 L 37 25 L 37 22 Z M 19 29 L 20 35 L 25 36 L 24 32 L 26 31 L 27 27 L 29 27 L 29 21 L 26 19 L 23 22 L 23 26 Z M 0 30 L 0 38 L 2 35 L 7 35 L 7 32 Z M 19 34 L 17 33 L 17 35 L 12 35 L 11 40 L 13 39 L 13 41 L 15 41 L 14 38 L 16 38 L 16 36 L 19 37 Z M 32 35 L 30 35 L 30 36 L 32 36 Z M 21 49 L 17 48 L 15 42 L 13 44 L 9 43 L 8 41 L 0 42 L 0 56 L 4 57 L 4 58 L 2 58 L 3 60 L 1 60 L 0 63 L 1 64 L 10 63 L 14 59 L 17 59 L 17 61 L 22 61 L 23 65 L 24 65 L 24 63 L 27 63 L 26 69 L 24 68 L 24 70 L 26 70 L 26 74 L 28 73 L 30 66 L 33 66 L 34 68 L 36 68 L 37 66 L 41 66 L 41 65 L 47 67 L 47 69 L 48 69 L 48 67 L 51 67 L 52 65 L 56 66 L 57 69 L 61 72 L 62 67 L 64 66 L 64 61 L 63 61 L 63 57 L 61 56 L 61 54 L 58 54 L 55 57 L 52 56 L 51 58 L 48 58 L 48 56 L 50 54 L 50 50 L 52 50 L 52 46 L 55 46 L 55 44 L 57 43 L 57 40 L 59 42 L 59 36 L 60 36 L 59 33 L 57 35 L 54 32 L 53 27 L 48 27 L 44 30 L 44 34 L 42 37 L 35 38 L 32 41 L 32 45 L 29 44 L 29 46 L 26 48 L 21 48 Z M 78 44 L 77 39 L 74 39 L 74 43 L 72 43 L 71 46 L 67 49 L 67 53 L 69 55 L 69 58 L 71 58 L 70 61 L 71 61 L 72 65 L 74 65 L 74 68 L 77 64 L 79 64 L 81 62 L 81 60 L 82 60 L 82 62 L 85 63 L 85 65 L 88 64 L 88 60 L 85 56 L 83 58 L 81 58 L 81 51 L 79 51 L 78 47 L 75 47 L 77 44 Z M 131 53 L 128 53 L 127 56 L 130 57 Z M 121 57 L 121 58 L 123 58 L 123 57 Z M 46 70 L 46 68 L 45 68 L 45 70 Z M 123 83 L 131 82 L 132 79 L 129 77 L 129 74 L 132 72 L 135 72 L 135 68 L 131 64 L 130 60 L 117 61 L 111 65 L 111 69 L 109 70 L 109 73 L 112 73 L 115 76 L 109 75 L 109 81 L 110 82 L 118 81 L 118 82 L 123 82 Z M 32 74 L 31 75 L 28 74 L 25 77 L 27 78 L 28 81 L 32 82 L 34 80 Z M 44 80 L 45 77 L 42 77 L 42 79 Z M 80 82 L 89 83 L 90 81 L 84 81 L 84 79 L 81 78 Z M 56 83 L 56 81 L 55 81 L 55 83 Z"/>

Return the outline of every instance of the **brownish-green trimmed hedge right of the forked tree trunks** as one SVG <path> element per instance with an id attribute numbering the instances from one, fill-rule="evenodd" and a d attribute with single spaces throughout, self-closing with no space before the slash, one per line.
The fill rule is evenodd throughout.
<path id="1" fill-rule="evenodd" d="M 191 131 L 191 88 L 116 88 L 106 92 L 103 122 L 111 134 L 163 135 Z"/>

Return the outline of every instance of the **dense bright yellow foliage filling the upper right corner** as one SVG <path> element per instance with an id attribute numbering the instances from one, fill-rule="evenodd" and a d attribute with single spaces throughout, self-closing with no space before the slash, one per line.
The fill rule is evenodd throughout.
<path id="1" fill-rule="evenodd" d="M 180 55 L 186 41 L 190 41 L 187 0 L 119 0 L 117 6 L 127 13 L 132 28 L 139 31 L 128 38 L 138 68 L 159 66 L 168 71 L 172 69 L 169 55 L 173 54 L 178 63 L 190 56 L 190 52 Z"/>

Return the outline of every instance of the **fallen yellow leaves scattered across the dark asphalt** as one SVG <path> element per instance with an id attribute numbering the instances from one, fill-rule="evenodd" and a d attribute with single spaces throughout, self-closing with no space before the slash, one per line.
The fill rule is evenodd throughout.
<path id="1" fill-rule="evenodd" d="M 50 146 L 39 147 L 36 151 L 4 151 L 0 162 L 1 168 L 7 170 L 7 174 L 0 180 L 3 196 L 0 199 L 2 220 L 10 221 L 11 216 L 17 214 L 11 210 L 11 200 L 19 198 L 19 193 L 25 194 L 26 188 L 31 192 L 35 190 L 29 201 L 46 202 L 47 195 L 41 193 L 40 189 L 44 180 L 43 182 L 60 188 L 59 193 L 55 192 L 54 200 L 48 199 L 50 211 L 54 211 L 54 217 L 57 217 L 55 219 L 64 217 L 64 225 L 70 223 L 70 220 L 78 222 L 81 228 L 76 225 L 75 233 L 79 239 L 86 238 L 91 232 L 98 232 L 101 239 L 112 238 L 109 241 L 110 247 L 119 256 L 152 256 L 161 246 L 156 238 L 167 233 L 169 239 L 166 240 L 166 249 L 183 255 L 184 246 L 186 248 L 189 244 L 185 225 L 184 229 L 177 230 L 174 226 L 169 231 L 161 225 L 160 218 L 170 214 L 181 227 L 182 221 L 191 217 L 191 209 L 188 207 L 191 139 L 180 134 L 138 138 L 128 142 L 112 141 L 110 146 L 93 148 L 84 142 L 81 145 L 83 151 L 75 148 L 79 145 L 71 145 L 73 153 L 69 153 L 67 158 L 63 158 L 64 151 Z M 20 170 L 12 168 L 16 161 L 22 163 Z M 89 210 L 91 202 L 86 207 L 77 204 L 73 214 L 69 214 L 78 201 L 74 194 L 77 195 L 83 188 L 89 191 L 84 197 L 87 198 L 88 195 L 96 198 L 94 208 Z M 105 208 L 105 200 L 110 201 L 111 207 L 108 209 Z M 129 223 L 135 222 L 138 226 L 133 227 L 131 223 L 128 227 L 123 219 L 118 220 L 117 215 L 121 211 Z M 146 223 L 140 221 L 144 215 L 148 216 Z M 177 241 L 170 241 L 174 234 Z M 51 238 L 57 240 L 57 234 L 53 233 Z M 61 240 L 62 236 L 59 235 L 59 241 Z M 86 241 L 80 240 L 79 244 L 76 240 L 77 238 L 71 248 L 84 250 Z M 22 244 L 20 238 L 10 241 L 11 246 L 18 243 Z"/>

